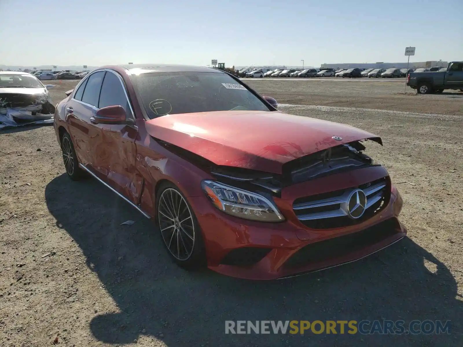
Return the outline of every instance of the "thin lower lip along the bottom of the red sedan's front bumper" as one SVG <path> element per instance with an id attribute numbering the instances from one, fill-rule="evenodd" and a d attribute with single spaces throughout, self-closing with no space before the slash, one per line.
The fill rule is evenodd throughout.
<path id="1" fill-rule="evenodd" d="M 272 279 L 286 279 L 291 277 L 298 277 L 308 273 L 319 272 L 322 270 L 327 270 L 332 267 L 341 266 L 344 264 L 349 264 L 357 260 L 368 257 L 371 254 L 379 252 L 380 250 L 389 247 L 390 245 L 399 242 L 407 235 L 407 229 L 405 226 L 397 220 L 400 225 L 400 229 L 397 228 L 397 232 L 380 242 L 371 244 L 368 247 L 359 249 L 350 254 L 345 254 L 340 257 L 331 258 L 328 260 L 322 260 L 318 262 L 308 263 L 305 266 L 300 266 L 299 268 L 285 269 L 283 266 L 276 272 L 268 272 L 269 263 L 267 259 L 257 263 L 256 266 L 252 267 L 238 267 L 238 266 L 229 266 L 229 265 L 218 265 L 218 266 L 208 266 L 209 269 L 227 275 L 231 277 L 236 277 L 240 279 L 252 279 L 252 280 L 272 280 Z M 303 246 L 301 246 L 302 248 Z M 266 271 L 267 270 L 267 271 Z"/>

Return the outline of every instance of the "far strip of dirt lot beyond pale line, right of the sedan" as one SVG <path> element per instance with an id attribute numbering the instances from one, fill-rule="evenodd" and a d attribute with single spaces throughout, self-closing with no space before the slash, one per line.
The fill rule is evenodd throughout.
<path id="1" fill-rule="evenodd" d="M 405 78 L 248 78 L 245 82 L 283 104 L 463 115 L 463 93 L 446 89 L 440 94 L 417 94 L 405 86 Z"/>

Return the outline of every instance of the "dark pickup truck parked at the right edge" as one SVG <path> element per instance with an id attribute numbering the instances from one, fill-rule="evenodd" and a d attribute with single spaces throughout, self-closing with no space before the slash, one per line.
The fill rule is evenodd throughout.
<path id="1" fill-rule="evenodd" d="M 463 62 L 449 62 L 444 72 L 411 72 L 407 86 L 419 94 L 442 93 L 444 89 L 459 89 L 463 92 Z"/>

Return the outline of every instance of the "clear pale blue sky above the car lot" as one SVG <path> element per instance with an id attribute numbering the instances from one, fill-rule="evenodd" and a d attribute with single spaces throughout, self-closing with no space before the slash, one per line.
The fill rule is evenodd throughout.
<path id="1" fill-rule="evenodd" d="M 0 0 L 0 65 L 463 60 L 463 0 Z"/>

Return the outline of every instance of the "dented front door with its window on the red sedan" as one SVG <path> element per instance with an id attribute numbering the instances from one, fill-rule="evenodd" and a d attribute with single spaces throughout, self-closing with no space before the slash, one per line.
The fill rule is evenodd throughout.
<path id="1" fill-rule="evenodd" d="M 127 118 L 133 119 L 133 113 L 125 85 L 118 73 L 106 70 L 100 92 L 98 107 L 121 105 Z M 95 153 L 94 166 L 103 176 L 106 183 L 138 204 L 143 187 L 143 178 L 135 167 L 135 139 L 138 128 L 127 124 L 96 124 L 101 137 L 93 143 Z"/>

